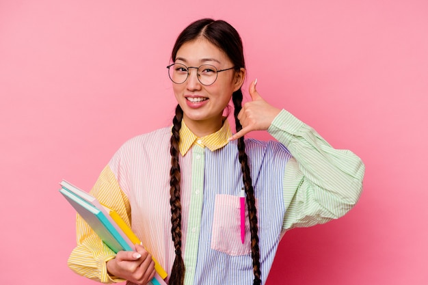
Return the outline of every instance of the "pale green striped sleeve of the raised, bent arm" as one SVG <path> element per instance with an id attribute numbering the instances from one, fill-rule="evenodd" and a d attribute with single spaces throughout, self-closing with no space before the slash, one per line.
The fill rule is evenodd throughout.
<path id="1" fill-rule="evenodd" d="M 283 178 L 284 230 L 342 217 L 362 191 L 364 164 L 349 150 L 336 150 L 314 129 L 282 110 L 268 132 L 293 158 Z"/>

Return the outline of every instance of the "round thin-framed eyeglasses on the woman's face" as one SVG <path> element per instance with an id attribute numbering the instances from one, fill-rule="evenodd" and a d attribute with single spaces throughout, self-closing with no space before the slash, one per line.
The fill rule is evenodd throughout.
<path id="1" fill-rule="evenodd" d="M 170 66 L 167 66 L 168 68 L 168 75 L 170 76 L 170 79 L 172 82 L 176 84 L 182 84 L 185 83 L 187 78 L 189 77 L 189 69 L 190 68 L 196 68 L 198 70 L 198 80 L 202 85 L 212 85 L 217 80 L 217 74 L 218 72 L 226 71 L 235 68 L 226 68 L 222 70 L 217 70 L 215 66 L 212 66 L 211 64 L 202 64 L 202 66 L 199 67 L 193 67 L 193 66 L 185 66 L 184 64 L 171 64 Z"/>

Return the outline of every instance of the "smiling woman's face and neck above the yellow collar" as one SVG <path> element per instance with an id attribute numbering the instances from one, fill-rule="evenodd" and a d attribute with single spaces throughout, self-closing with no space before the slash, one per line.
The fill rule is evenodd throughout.
<path id="1" fill-rule="evenodd" d="M 233 67 L 228 56 L 205 39 L 183 44 L 178 49 L 175 63 L 196 68 L 202 64 L 211 64 L 217 70 Z M 241 87 L 245 70 L 241 68 L 239 72 L 235 69 L 218 72 L 217 80 L 212 85 L 202 85 L 196 68 L 189 68 L 187 80 L 181 84 L 172 83 L 172 87 L 176 100 L 183 109 L 187 126 L 193 132 L 205 128 L 207 133 L 204 135 L 207 135 L 222 126 L 223 110 L 232 93 Z"/>

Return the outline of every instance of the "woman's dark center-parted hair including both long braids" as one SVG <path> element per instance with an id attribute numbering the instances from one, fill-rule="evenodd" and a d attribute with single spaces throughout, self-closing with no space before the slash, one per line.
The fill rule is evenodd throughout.
<path id="1" fill-rule="evenodd" d="M 178 36 L 174 48 L 172 49 L 171 59 L 175 62 L 178 49 L 192 40 L 205 38 L 220 50 L 228 55 L 230 61 L 239 70 L 245 68 L 245 60 L 243 57 L 242 40 L 237 30 L 225 21 L 214 21 L 210 18 L 204 18 L 191 23 Z M 235 107 L 235 125 L 237 132 L 242 126 L 237 116 L 242 108 L 242 92 L 241 89 L 233 92 L 232 102 Z M 174 117 L 171 136 L 171 171 L 170 171 L 170 204 L 171 204 L 171 233 L 172 241 L 176 249 L 176 258 L 170 275 L 170 285 L 183 285 L 185 266 L 181 256 L 181 204 L 180 204 L 180 165 L 178 163 L 178 142 L 180 141 L 181 120 L 183 120 L 183 109 L 180 105 L 176 107 L 176 116 Z M 243 174 L 243 185 L 246 193 L 246 201 L 248 206 L 248 215 L 250 219 L 251 232 L 251 249 L 254 271 L 254 284 L 261 283 L 260 280 L 260 252 L 258 249 L 258 227 L 256 200 L 254 198 L 254 189 L 252 187 L 252 179 L 250 175 L 250 167 L 248 166 L 248 156 L 245 153 L 245 143 L 243 137 L 238 139 L 239 163 Z"/>

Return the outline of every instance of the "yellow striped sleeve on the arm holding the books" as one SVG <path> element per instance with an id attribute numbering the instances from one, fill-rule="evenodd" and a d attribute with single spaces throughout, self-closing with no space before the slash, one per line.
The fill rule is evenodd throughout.
<path id="1" fill-rule="evenodd" d="M 107 165 L 94 188 L 90 191 L 98 201 L 114 209 L 120 217 L 131 226 L 131 207 L 129 200 L 120 189 L 116 176 Z M 77 247 L 72 250 L 68 258 L 68 267 L 75 273 L 92 280 L 110 284 L 124 282 L 107 272 L 107 261 L 116 257 L 116 254 L 105 245 L 88 224 L 77 215 L 76 219 Z"/>

